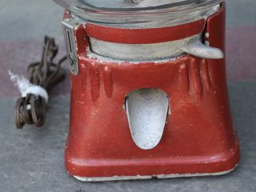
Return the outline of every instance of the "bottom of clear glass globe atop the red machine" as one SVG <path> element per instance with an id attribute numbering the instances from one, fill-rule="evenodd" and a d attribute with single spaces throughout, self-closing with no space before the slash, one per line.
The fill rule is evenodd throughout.
<path id="1" fill-rule="evenodd" d="M 175 26 L 207 18 L 223 0 L 54 0 L 73 18 L 105 26 Z"/>

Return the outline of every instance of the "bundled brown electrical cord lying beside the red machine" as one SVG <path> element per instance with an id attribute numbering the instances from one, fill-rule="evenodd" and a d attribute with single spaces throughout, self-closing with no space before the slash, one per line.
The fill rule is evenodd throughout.
<path id="1" fill-rule="evenodd" d="M 47 92 L 54 88 L 65 78 L 65 71 L 61 68 L 66 56 L 58 63 L 54 58 L 58 54 L 58 46 L 54 38 L 45 37 L 42 50 L 41 62 L 31 63 L 27 70 L 31 84 L 42 86 Z M 26 97 L 18 98 L 15 106 L 15 124 L 22 129 L 26 124 L 42 126 L 46 118 L 46 100 L 35 94 L 27 94 Z"/>

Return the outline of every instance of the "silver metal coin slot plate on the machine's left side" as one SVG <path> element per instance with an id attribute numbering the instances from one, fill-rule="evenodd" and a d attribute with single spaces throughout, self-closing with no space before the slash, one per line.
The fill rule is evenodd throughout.
<path id="1" fill-rule="evenodd" d="M 66 42 L 66 52 L 67 58 L 69 60 L 70 72 L 73 75 L 78 75 L 78 53 L 77 53 L 77 41 L 74 35 L 74 31 L 82 23 L 74 20 L 73 18 L 68 18 L 62 21 L 62 28 L 64 33 L 64 38 Z"/>

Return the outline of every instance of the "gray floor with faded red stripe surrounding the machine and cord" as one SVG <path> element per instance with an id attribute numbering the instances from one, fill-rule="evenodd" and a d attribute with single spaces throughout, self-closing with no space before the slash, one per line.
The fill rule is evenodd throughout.
<path id="1" fill-rule="evenodd" d="M 66 174 L 64 145 L 69 123 L 69 78 L 51 92 L 42 129 L 14 128 L 18 90 L 7 70 L 26 75 L 41 57 L 42 38 L 54 36 L 65 54 L 62 8 L 50 0 L 0 2 L 0 191 L 256 191 L 256 1 L 227 0 L 226 55 L 230 103 L 241 144 L 234 172 L 204 178 L 83 183 Z M 62 111 L 62 113 L 59 113 Z"/>

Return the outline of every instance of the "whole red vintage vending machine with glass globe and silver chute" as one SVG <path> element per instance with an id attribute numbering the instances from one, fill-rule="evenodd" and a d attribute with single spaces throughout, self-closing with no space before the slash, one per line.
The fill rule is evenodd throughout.
<path id="1" fill-rule="evenodd" d="M 54 0 L 69 59 L 66 170 L 82 181 L 238 165 L 222 0 Z"/>

